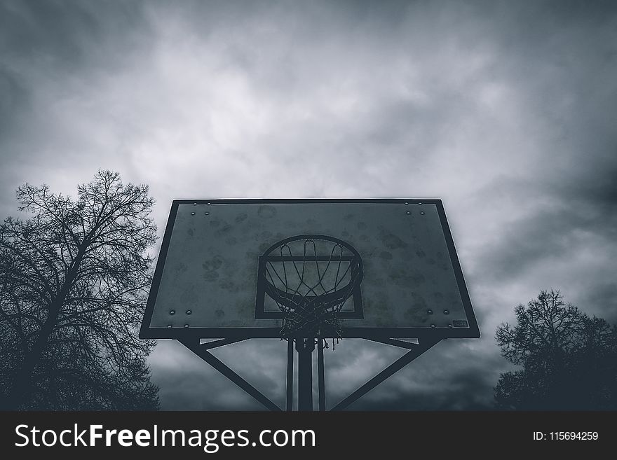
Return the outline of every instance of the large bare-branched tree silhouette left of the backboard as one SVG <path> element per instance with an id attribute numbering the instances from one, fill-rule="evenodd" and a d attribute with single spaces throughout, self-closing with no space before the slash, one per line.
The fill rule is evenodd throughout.
<path id="1" fill-rule="evenodd" d="M 18 188 L 27 220 L 0 225 L 4 407 L 156 409 L 137 338 L 156 226 L 147 186 L 99 171 L 78 196 Z"/>

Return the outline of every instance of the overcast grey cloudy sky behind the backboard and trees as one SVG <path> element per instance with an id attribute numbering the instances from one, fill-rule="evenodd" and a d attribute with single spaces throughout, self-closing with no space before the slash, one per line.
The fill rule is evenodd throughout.
<path id="1" fill-rule="evenodd" d="M 441 198 L 482 338 L 351 408 L 490 407 L 515 305 L 617 322 L 616 6 L 0 0 L 0 216 L 98 168 L 149 184 L 160 235 L 177 198 Z M 326 350 L 328 404 L 402 353 Z M 283 405 L 284 343 L 215 354 Z M 150 363 L 164 409 L 261 408 L 176 342 Z"/>

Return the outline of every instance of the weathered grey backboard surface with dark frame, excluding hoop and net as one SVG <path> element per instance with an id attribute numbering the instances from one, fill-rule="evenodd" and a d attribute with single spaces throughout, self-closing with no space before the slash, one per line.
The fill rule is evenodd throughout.
<path id="1" fill-rule="evenodd" d="M 175 200 L 140 337 L 280 337 L 260 256 L 296 235 L 360 254 L 343 337 L 480 337 L 440 200 Z"/>

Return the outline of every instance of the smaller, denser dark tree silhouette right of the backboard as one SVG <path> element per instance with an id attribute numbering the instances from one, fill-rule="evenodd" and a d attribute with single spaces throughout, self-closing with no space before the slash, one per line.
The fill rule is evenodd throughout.
<path id="1" fill-rule="evenodd" d="M 617 408 L 617 330 L 542 291 L 515 309 L 517 325 L 501 324 L 501 354 L 520 370 L 505 372 L 496 406 L 515 410 Z"/>

